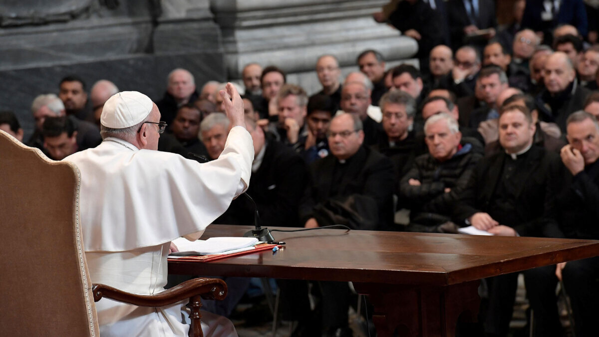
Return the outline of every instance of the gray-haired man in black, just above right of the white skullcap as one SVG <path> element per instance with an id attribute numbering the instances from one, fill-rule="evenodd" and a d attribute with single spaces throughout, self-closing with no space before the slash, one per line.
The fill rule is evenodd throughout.
<path id="1" fill-rule="evenodd" d="M 167 77 L 167 92 L 156 102 L 162 121 L 170 125 L 177 115 L 177 110 L 184 104 L 195 102 L 198 97 L 193 75 L 183 68 L 172 70 Z"/>

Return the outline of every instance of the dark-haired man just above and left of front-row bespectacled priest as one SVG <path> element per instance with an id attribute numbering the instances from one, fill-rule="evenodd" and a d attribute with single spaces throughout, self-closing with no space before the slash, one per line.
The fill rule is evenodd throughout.
<path id="1" fill-rule="evenodd" d="M 310 164 L 319 158 L 329 155 L 329 142 L 326 131 L 331 125 L 331 118 L 337 110 L 331 97 L 327 95 L 313 95 L 308 100 L 308 115 L 305 119 L 308 125 L 308 134 L 299 140 L 297 151 Z"/>

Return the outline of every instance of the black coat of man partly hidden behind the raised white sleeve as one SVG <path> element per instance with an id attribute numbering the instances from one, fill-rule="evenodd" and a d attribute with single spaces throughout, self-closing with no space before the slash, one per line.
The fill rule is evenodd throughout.
<path id="1" fill-rule="evenodd" d="M 256 201 L 264 226 L 303 226 L 298 204 L 308 183 L 304 160 L 291 148 L 269 140 L 258 171 L 252 173 L 247 194 Z M 244 195 L 233 200 L 215 224 L 253 225 L 254 206 Z"/>

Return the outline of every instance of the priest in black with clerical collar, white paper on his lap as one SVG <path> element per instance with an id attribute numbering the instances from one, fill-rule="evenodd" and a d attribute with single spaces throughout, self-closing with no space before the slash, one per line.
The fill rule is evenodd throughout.
<path id="1" fill-rule="evenodd" d="M 455 204 L 454 221 L 501 236 L 551 236 L 548 218 L 553 194 L 547 192 L 550 169 L 559 159 L 533 144 L 536 126 L 526 107 L 508 106 L 499 118 L 504 152 L 479 161 Z M 518 273 L 487 279 L 489 304 L 485 333 L 506 336 L 512 318 Z"/>

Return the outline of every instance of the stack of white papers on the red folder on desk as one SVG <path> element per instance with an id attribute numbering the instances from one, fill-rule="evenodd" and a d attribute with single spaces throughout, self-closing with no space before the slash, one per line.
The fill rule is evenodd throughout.
<path id="1" fill-rule="evenodd" d="M 173 240 L 180 252 L 197 252 L 199 255 L 219 254 L 258 244 L 256 237 L 210 237 L 208 240 L 190 241 L 184 237 Z"/>

